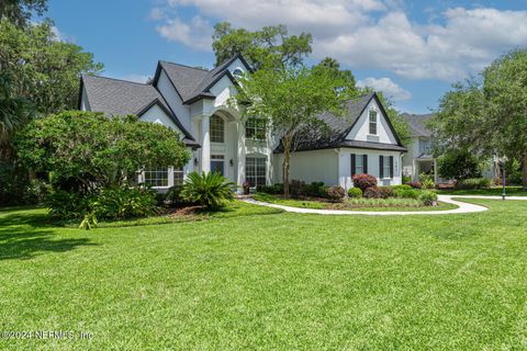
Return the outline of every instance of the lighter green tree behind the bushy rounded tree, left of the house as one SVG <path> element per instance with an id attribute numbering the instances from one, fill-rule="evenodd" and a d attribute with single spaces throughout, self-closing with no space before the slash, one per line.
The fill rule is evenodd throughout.
<path id="1" fill-rule="evenodd" d="M 80 75 L 102 69 L 92 54 L 58 41 L 52 25 L 19 29 L 0 21 L 0 70 L 12 78 L 13 95 L 31 101 L 41 115 L 75 109 Z"/>

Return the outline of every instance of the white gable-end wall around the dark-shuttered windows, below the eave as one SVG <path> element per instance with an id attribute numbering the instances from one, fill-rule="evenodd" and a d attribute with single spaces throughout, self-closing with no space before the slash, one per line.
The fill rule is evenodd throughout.
<path id="1" fill-rule="evenodd" d="M 354 186 L 351 181 L 351 154 L 368 155 L 368 174 L 377 178 L 379 186 L 381 185 L 400 185 L 402 182 L 402 160 L 401 152 L 399 151 L 384 151 L 384 150 L 368 150 L 368 149 L 351 149 L 343 148 L 338 154 L 338 184 L 344 189 Z M 383 179 L 379 178 L 379 156 L 393 156 L 393 178 Z"/>

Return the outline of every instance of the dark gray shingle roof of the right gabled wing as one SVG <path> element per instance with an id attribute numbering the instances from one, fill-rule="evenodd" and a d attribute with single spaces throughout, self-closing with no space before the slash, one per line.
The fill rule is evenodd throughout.
<path id="1" fill-rule="evenodd" d="M 316 150 L 337 147 L 356 147 L 356 148 L 369 148 L 369 149 L 383 149 L 383 150 L 400 150 L 406 149 L 402 145 L 391 145 L 371 141 L 357 141 L 347 140 L 346 136 L 349 134 L 354 125 L 359 120 L 360 115 L 368 106 L 368 103 L 375 95 L 374 92 L 358 97 L 348 101 L 347 113 L 344 117 L 337 117 L 330 113 L 323 113 L 319 118 L 324 121 L 324 127 L 306 131 L 302 134 L 301 140 L 299 140 L 296 150 Z M 279 145 L 274 152 L 282 152 L 283 147 Z"/>

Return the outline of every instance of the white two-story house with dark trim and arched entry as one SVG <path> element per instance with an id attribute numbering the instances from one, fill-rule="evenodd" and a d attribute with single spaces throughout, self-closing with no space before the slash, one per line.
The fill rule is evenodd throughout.
<path id="1" fill-rule="evenodd" d="M 192 154 L 177 169 L 146 169 L 139 182 L 159 191 L 182 183 L 192 171 L 217 171 L 238 186 L 254 188 L 282 180 L 283 155 L 277 138 L 259 118 L 244 121 L 228 106 L 236 93 L 236 77 L 250 72 L 236 55 L 212 70 L 159 61 L 152 83 L 83 75 L 79 109 L 109 116 L 136 114 L 143 121 L 177 131 Z M 351 188 L 355 173 L 368 172 L 380 184 L 401 184 L 401 144 L 375 93 L 348 102 L 344 118 L 321 115 L 328 134 L 316 131 L 300 140 L 291 158 L 291 179 L 323 181 Z"/>

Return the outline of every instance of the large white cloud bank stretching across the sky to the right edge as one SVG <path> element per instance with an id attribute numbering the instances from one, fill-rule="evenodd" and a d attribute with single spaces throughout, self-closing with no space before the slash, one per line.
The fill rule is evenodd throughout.
<path id="1" fill-rule="evenodd" d="M 527 46 L 527 11 L 455 8 L 426 13 L 419 24 L 401 0 L 166 0 L 171 11 L 191 7 L 189 22 L 164 20 L 159 33 L 189 47 L 211 49 L 210 22 L 250 30 L 285 24 L 313 34 L 313 56 L 333 56 L 352 69 L 390 70 L 414 79 L 458 80 L 513 47 Z"/>

